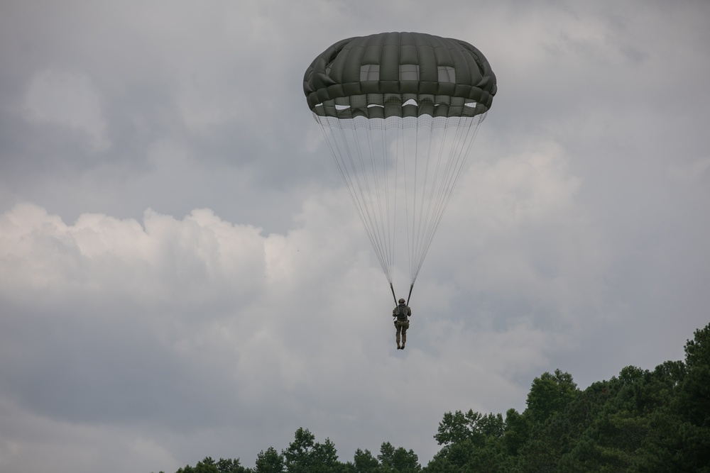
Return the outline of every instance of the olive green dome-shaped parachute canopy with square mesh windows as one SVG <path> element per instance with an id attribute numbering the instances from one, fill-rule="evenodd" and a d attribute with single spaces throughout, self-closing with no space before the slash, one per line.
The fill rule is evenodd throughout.
<path id="1" fill-rule="evenodd" d="M 378 33 L 335 43 L 303 77 L 317 116 L 476 116 L 491 108 L 496 75 L 474 46 L 425 33 Z"/>

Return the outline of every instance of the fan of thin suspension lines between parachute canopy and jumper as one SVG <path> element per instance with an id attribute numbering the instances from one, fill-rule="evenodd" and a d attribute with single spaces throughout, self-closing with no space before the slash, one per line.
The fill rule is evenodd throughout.
<path id="1" fill-rule="evenodd" d="M 403 251 L 411 296 L 485 116 L 316 116 L 393 296 L 396 255 Z M 406 248 L 396 247 L 404 243 L 398 227 L 406 233 Z"/>

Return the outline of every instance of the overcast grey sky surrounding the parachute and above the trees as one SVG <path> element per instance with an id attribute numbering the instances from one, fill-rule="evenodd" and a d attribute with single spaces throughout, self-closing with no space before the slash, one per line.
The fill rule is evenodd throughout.
<path id="1" fill-rule="evenodd" d="M 709 322 L 710 2 L 0 4 L 0 469 L 253 466 L 297 428 L 426 464 L 444 413 L 682 360 Z M 383 31 L 498 94 L 392 294 L 302 79 Z M 395 275 L 398 291 L 408 282 Z"/>

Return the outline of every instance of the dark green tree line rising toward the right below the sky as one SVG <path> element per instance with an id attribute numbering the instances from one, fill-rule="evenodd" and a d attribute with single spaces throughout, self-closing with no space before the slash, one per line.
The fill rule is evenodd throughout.
<path id="1" fill-rule="evenodd" d="M 341 462 L 331 440 L 299 428 L 285 450 L 259 452 L 253 468 L 206 457 L 175 473 L 710 473 L 710 324 L 687 340 L 684 361 L 652 371 L 628 366 L 584 390 L 569 373 L 545 372 L 526 406 L 505 416 L 444 413 L 434 435 L 441 449 L 424 467 L 388 442 L 378 455 L 357 449 Z"/>

